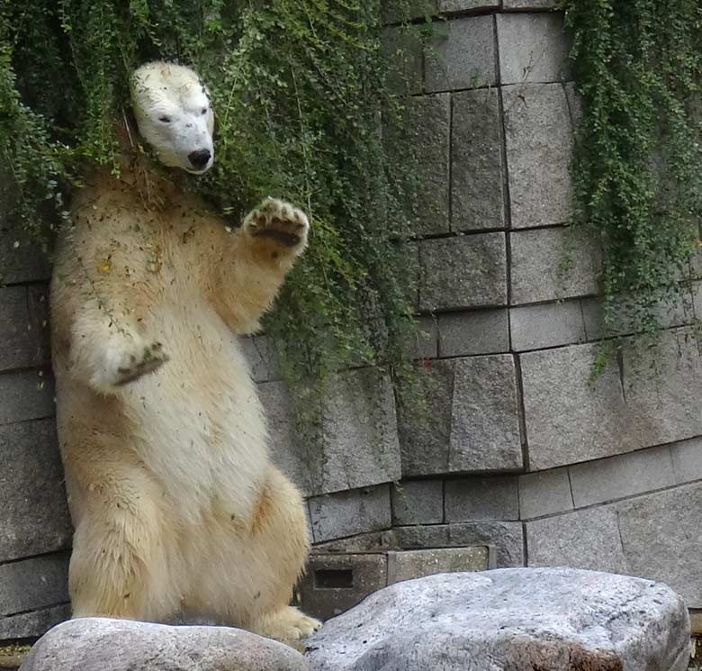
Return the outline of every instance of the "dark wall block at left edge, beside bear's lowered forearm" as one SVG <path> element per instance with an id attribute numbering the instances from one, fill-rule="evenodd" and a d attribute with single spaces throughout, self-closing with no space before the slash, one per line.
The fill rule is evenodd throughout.
<path id="1" fill-rule="evenodd" d="M 33 287 L 0 287 L 0 370 L 49 362 L 46 303 Z"/>

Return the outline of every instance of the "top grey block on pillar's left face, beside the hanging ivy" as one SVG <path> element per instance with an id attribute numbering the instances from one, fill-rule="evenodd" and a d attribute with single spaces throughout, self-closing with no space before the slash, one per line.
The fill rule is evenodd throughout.
<path id="1" fill-rule="evenodd" d="M 424 55 L 428 93 L 497 84 L 495 24 L 491 16 L 449 21 L 435 32 Z"/>

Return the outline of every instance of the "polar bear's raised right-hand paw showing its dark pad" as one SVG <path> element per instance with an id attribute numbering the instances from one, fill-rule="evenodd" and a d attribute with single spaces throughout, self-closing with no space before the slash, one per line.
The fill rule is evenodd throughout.
<path id="1" fill-rule="evenodd" d="M 242 224 L 242 232 L 252 237 L 257 253 L 273 261 L 292 260 L 301 254 L 309 230 L 302 210 L 276 198 L 266 198 Z"/>

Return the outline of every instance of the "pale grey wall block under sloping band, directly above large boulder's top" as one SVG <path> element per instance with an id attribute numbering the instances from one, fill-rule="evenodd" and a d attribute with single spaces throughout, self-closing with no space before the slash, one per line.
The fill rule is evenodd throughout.
<path id="1" fill-rule="evenodd" d="M 530 567 L 630 573 L 614 506 L 527 521 L 526 527 Z"/>

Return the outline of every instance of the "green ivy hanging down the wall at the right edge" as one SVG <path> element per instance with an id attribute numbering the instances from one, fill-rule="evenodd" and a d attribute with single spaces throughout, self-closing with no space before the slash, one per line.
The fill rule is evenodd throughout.
<path id="1" fill-rule="evenodd" d="M 576 220 L 595 231 L 603 249 L 608 335 L 634 331 L 646 340 L 666 312 L 683 307 L 691 315 L 694 308 L 692 261 L 702 223 L 702 5 L 562 5 L 583 104 L 572 166 Z"/>

